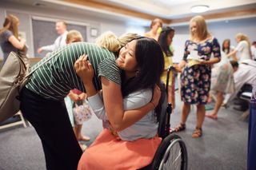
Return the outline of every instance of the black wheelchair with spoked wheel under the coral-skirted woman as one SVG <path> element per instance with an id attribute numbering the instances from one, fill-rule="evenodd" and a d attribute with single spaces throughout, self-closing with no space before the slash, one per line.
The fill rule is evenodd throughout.
<path id="1" fill-rule="evenodd" d="M 162 89 L 162 97 L 159 102 L 162 102 L 162 112 L 158 125 L 158 136 L 162 137 L 162 142 L 154 155 L 151 164 L 140 170 L 186 170 L 188 164 L 186 144 L 182 138 L 173 132 L 170 132 L 170 114 L 172 106 L 167 103 L 168 85 L 170 71 L 174 68 L 170 66 L 167 69 L 166 87 Z"/>

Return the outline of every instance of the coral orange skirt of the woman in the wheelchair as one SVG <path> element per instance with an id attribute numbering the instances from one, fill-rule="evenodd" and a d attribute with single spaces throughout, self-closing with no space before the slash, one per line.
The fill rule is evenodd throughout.
<path id="1" fill-rule="evenodd" d="M 134 170 L 146 167 L 152 162 L 161 140 L 160 137 L 119 140 L 105 128 L 82 154 L 78 170 Z"/>

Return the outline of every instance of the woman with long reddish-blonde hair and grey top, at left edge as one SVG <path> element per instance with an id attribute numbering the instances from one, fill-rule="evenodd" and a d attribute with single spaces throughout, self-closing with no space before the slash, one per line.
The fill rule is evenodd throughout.
<path id="1" fill-rule="evenodd" d="M 18 53 L 18 50 L 25 48 L 26 40 L 18 38 L 19 20 L 13 14 L 7 15 L 3 28 L 0 30 L 0 45 L 3 53 L 2 65 L 11 51 Z"/>

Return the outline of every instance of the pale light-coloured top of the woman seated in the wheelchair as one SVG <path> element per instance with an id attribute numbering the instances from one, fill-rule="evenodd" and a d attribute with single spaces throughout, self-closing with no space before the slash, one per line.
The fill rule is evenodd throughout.
<path id="1" fill-rule="evenodd" d="M 124 110 L 138 109 L 151 101 L 152 90 L 144 89 L 138 92 L 130 93 L 123 99 Z M 88 97 L 89 105 L 99 119 L 107 120 L 106 111 L 99 93 Z M 122 140 L 137 140 L 139 138 L 152 138 L 158 132 L 158 123 L 154 117 L 154 110 L 151 110 L 146 116 L 142 117 L 134 125 L 118 132 Z"/>

